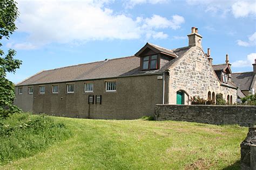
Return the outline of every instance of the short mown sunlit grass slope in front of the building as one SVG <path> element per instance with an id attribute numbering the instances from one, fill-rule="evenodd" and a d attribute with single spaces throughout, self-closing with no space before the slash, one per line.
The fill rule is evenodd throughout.
<path id="1" fill-rule="evenodd" d="M 4 168 L 239 169 L 247 128 L 187 122 L 60 118 L 75 136 Z"/>

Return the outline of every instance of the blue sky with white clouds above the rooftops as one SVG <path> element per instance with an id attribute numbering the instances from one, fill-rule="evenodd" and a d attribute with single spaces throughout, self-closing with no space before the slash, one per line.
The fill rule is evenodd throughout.
<path id="1" fill-rule="evenodd" d="M 8 79 L 17 83 L 41 70 L 135 54 L 146 42 L 178 48 L 198 27 L 213 63 L 229 54 L 233 72 L 256 59 L 255 1 L 86 0 L 17 1 L 18 30 L 3 40 L 23 61 Z"/>

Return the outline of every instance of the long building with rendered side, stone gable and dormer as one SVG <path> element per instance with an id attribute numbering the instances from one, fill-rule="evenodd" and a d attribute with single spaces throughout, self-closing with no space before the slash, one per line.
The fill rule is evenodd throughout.
<path id="1" fill-rule="evenodd" d="M 222 79 L 198 29 L 187 36 L 182 48 L 146 43 L 134 56 L 42 71 L 16 84 L 15 104 L 56 116 L 136 119 L 153 116 L 156 104 L 190 104 L 192 96 L 215 101 L 221 93 L 236 102 L 230 65 Z"/>

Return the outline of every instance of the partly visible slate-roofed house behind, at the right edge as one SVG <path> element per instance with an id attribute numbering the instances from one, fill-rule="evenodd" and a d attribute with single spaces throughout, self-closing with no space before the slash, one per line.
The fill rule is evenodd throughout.
<path id="1" fill-rule="evenodd" d="M 253 72 L 232 73 L 232 81 L 239 87 L 245 96 L 254 95 L 256 89 L 256 59 L 254 60 Z"/>

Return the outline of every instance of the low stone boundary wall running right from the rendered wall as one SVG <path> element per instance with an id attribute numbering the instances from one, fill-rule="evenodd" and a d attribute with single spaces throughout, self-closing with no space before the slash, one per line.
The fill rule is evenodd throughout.
<path id="1" fill-rule="evenodd" d="M 245 105 L 167 105 L 157 104 L 156 121 L 186 121 L 208 124 L 256 124 L 256 106 Z"/>

